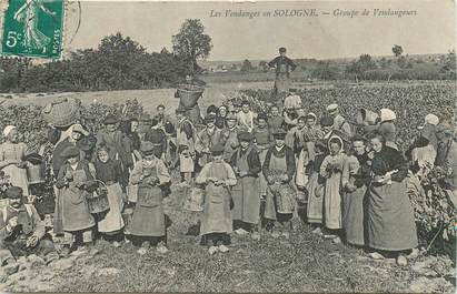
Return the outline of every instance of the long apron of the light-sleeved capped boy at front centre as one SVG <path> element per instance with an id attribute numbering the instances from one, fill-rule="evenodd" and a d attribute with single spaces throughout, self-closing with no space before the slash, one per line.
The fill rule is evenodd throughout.
<path id="1" fill-rule="evenodd" d="M 219 164 L 211 163 L 209 170 L 210 178 L 225 180 L 228 178 L 226 169 L 220 169 Z M 222 185 L 215 185 L 212 182 L 206 186 L 205 209 L 201 220 L 200 234 L 228 233 L 232 231 L 230 212 L 230 192 Z"/>

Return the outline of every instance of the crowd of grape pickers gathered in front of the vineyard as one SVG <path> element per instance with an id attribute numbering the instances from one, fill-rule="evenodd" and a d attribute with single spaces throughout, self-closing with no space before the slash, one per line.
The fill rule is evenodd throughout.
<path id="1" fill-rule="evenodd" d="M 132 242 L 139 254 L 150 246 L 166 253 L 169 220 L 162 200 L 171 193 L 172 170 L 181 175 L 177 186 L 200 207 L 190 213 L 210 254 L 228 252 L 231 233 L 259 241 L 265 230 L 274 239 L 289 239 L 292 219 L 301 216 L 315 234 L 405 265 L 418 245 L 408 178 L 443 166 L 454 199 L 457 194 L 453 130 L 435 114 L 426 116 L 419 138 L 403 152 L 394 111 L 367 112 L 355 128 L 338 104 L 320 118 L 307 112 L 295 91 L 268 113 L 255 113 L 246 100 L 210 105 L 203 129 L 182 105 L 175 111 L 177 121 L 165 113 L 159 105 L 152 118 L 119 121 L 108 114 L 97 133 L 83 122 L 50 129 L 60 255 L 86 250 L 95 236 L 113 246 Z M 11 175 L 12 186 L 0 211 L 0 262 L 14 262 L 18 249 L 51 262 L 58 258 L 52 237 L 23 201 L 26 146 L 16 126 L 8 125 L 3 135 L 0 169 Z M 411 163 L 418 166 L 414 172 Z M 88 201 L 103 195 L 109 207 L 93 213 Z"/>

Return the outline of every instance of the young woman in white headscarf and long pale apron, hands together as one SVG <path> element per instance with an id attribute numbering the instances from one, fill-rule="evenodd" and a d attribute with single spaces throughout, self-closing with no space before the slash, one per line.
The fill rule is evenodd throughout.
<path id="1" fill-rule="evenodd" d="M 330 234 L 325 235 L 332 239 L 334 243 L 341 243 L 339 237 L 342 227 L 341 210 L 341 173 L 346 155 L 342 151 L 342 140 L 337 135 L 328 140 L 330 154 L 324 159 L 320 165 L 320 175 L 326 179 L 326 190 L 324 196 L 325 225 Z"/>

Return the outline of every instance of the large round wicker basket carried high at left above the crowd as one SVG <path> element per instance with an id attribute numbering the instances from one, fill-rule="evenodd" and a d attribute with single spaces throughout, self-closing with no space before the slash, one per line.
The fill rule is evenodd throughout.
<path id="1" fill-rule="evenodd" d="M 53 126 L 66 128 L 80 118 L 80 107 L 74 99 L 61 99 L 46 105 L 42 114 Z"/>

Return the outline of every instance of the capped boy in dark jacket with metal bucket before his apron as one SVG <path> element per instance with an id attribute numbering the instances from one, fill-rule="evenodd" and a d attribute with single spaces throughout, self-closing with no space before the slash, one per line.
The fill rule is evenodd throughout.
<path id="1" fill-rule="evenodd" d="M 281 233 L 284 237 L 288 239 L 295 207 L 291 180 L 296 172 L 296 163 L 294 151 L 285 144 L 286 131 L 276 131 L 274 138 L 275 145 L 268 150 L 262 165 L 262 172 L 269 186 L 265 217 L 269 221 L 267 230 L 272 231 L 271 236 L 278 237 Z M 275 221 L 279 222 L 282 232 L 272 230 Z"/>

